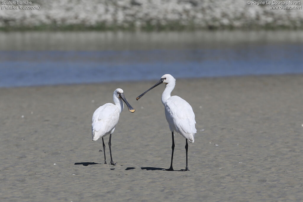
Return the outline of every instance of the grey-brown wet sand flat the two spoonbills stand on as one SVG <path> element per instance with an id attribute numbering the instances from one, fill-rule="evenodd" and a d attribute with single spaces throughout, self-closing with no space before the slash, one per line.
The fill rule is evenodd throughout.
<path id="1" fill-rule="evenodd" d="M 197 122 L 187 172 L 179 134 L 176 171 L 162 171 L 171 157 L 164 84 L 135 99 L 157 81 L 0 88 L 0 200 L 302 200 L 303 75 L 177 79 L 172 95 Z M 112 166 L 91 124 L 116 88 L 136 111 L 120 115 Z"/>

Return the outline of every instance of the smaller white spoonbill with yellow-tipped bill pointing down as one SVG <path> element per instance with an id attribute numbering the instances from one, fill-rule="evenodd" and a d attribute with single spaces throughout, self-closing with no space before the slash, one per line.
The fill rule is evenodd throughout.
<path id="1" fill-rule="evenodd" d="M 100 137 L 102 137 L 103 142 L 103 151 L 104 151 L 104 161 L 106 164 L 106 158 L 105 158 L 105 144 L 103 137 L 109 134 L 109 141 L 108 141 L 108 147 L 109 147 L 109 154 L 111 155 L 111 165 L 116 165 L 116 163 L 113 162 L 112 159 L 112 150 L 111 150 L 111 139 L 112 139 L 112 133 L 115 131 L 116 124 L 119 121 L 120 113 L 122 112 L 124 108 L 124 104 L 122 100 L 125 102 L 125 104 L 128 107 L 128 110 L 132 113 L 135 112 L 135 109 L 132 108 L 132 106 L 127 102 L 123 90 L 121 88 L 117 88 L 113 93 L 113 100 L 115 104 L 112 103 L 106 103 L 96 109 L 96 111 L 93 114 L 92 118 L 92 140 L 96 141 Z"/>

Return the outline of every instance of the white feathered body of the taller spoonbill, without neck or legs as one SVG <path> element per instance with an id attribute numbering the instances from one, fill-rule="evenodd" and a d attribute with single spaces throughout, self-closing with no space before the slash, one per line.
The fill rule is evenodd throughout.
<path id="1" fill-rule="evenodd" d="M 191 143 L 195 141 L 195 114 L 187 101 L 179 96 L 168 98 L 165 102 L 165 117 L 171 131 L 180 133 Z"/>

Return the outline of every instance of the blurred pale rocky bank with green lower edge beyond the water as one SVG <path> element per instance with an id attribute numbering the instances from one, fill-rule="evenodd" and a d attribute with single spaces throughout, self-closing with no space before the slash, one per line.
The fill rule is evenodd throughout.
<path id="1" fill-rule="evenodd" d="M 148 31 L 303 28 L 302 9 L 271 9 L 272 5 L 248 5 L 247 1 L 242 0 L 31 2 L 30 6 L 39 6 L 40 10 L 3 9 L 1 4 L 0 29 Z"/>

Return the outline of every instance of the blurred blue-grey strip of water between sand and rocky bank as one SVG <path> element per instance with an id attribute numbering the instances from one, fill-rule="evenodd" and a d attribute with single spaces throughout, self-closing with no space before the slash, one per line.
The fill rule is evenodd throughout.
<path id="1" fill-rule="evenodd" d="M 0 87 L 303 73 L 302 31 L 2 32 Z"/>

